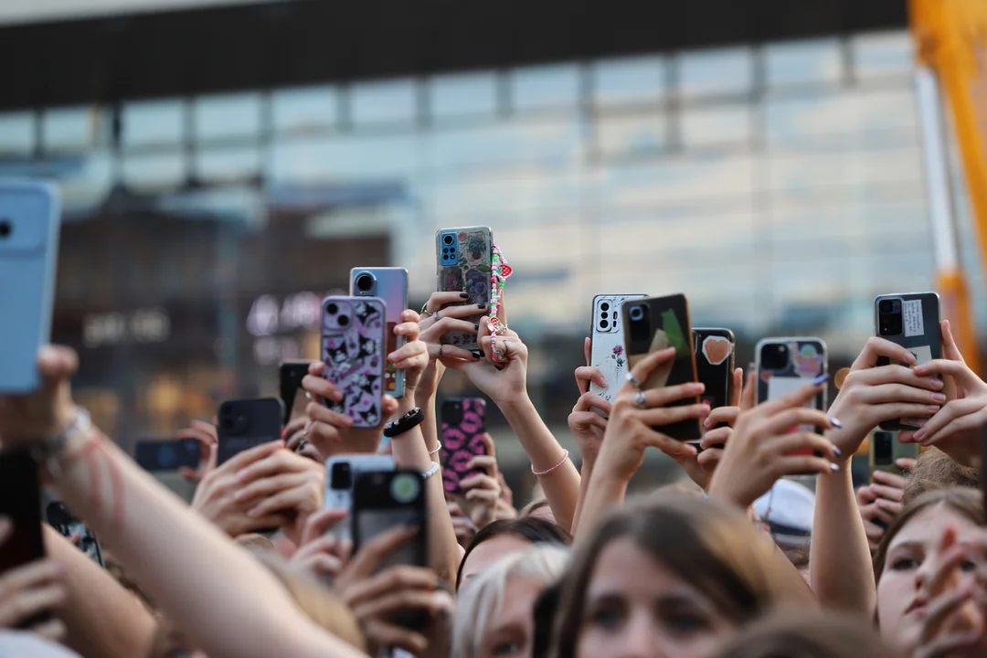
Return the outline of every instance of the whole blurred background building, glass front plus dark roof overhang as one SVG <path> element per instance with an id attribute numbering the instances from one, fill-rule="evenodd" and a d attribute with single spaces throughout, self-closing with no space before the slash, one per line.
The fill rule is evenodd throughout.
<path id="1" fill-rule="evenodd" d="M 273 395 L 350 267 L 407 267 L 418 307 L 441 227 L 493 228 L 564 441 L 594 294 L 684 292 L 741 365 L 820 335 L 835 371 L 875 295 L 934 285 L 904 0 L 8 0 L 0 21 L 0 175 L 61 185 L 54 333 L 124 445 Z"/>

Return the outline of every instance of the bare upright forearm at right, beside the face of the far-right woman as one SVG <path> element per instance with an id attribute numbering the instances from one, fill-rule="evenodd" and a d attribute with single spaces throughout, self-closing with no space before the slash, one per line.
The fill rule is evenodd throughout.
<path id="1" fill-rule="evenodd" d="M 824 608 L 870 616 L 876 605 L 871 548 L 857 507 L 850 464 L 841 467 L 817 478 L 810 580 Z"/>

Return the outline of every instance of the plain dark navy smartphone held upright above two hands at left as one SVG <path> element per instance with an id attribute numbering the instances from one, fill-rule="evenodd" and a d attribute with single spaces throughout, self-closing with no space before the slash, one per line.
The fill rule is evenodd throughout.
<path id="1" fill-rule="evenodd" d="M 216 464 L 225 464 L 245 450 L 280 439 L 282 407 L 277 398 L 228 400 L 220 404 Z"/>

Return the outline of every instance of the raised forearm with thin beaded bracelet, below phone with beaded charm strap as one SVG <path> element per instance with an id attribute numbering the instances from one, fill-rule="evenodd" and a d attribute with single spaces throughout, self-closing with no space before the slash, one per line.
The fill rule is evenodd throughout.
<path id="1" fill-rule="evenodd" d="M 527 397 L 500 405 L 500 411 L 521 442 L 532 470 L 549 472 L 540 475 L 538 481 L 545 491 L 556 523 L 569 530 L 579 500 L 579 472 L 572 461 L 566 459 L 566 449 L 556 440 Z"/>

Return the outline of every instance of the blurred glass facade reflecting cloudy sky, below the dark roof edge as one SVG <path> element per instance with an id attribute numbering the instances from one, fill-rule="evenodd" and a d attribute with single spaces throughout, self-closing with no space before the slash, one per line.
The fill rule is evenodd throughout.
<path id="1" fill-rule="evenodd" d="M 7 112 L 0 175 L 61 183 L 56 336 L 128 435 L 273 393 L 352 266 L 420 305 L 435 231 L 471 225 L 564 428 L 594 294 L 684 292 L 742 359 L 808 333 L 835 369 L 875 295 L 933 288 L 912 58 L 890 32 Z"/>

